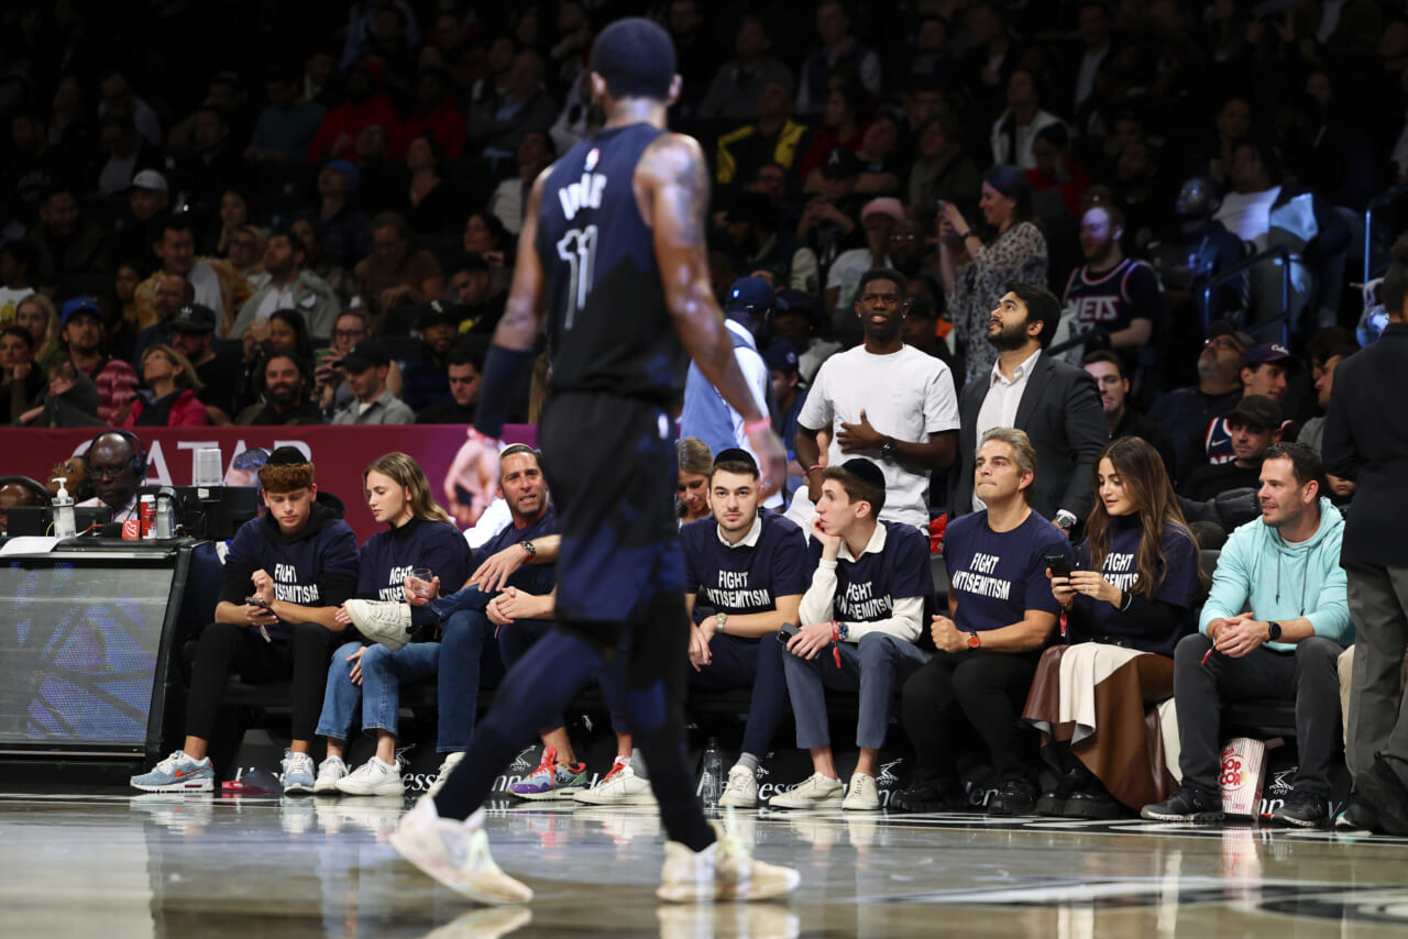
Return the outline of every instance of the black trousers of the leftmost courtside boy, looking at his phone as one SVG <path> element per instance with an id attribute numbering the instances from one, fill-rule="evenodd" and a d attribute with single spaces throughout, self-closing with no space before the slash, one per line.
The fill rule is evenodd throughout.
<path id="1" fill-rule="evenodd" d="M 210 739 L 225 683 L 238 674 L 251 684 L 291 680 L 293 739 L 311 741 L 328 683 L 328 660 L 345 635 L 311 622 L 293 626 L 290 639 L 265 642 L 258 629 L 213 622 L 200 634 L 186 697 L 186 735 Z"/>

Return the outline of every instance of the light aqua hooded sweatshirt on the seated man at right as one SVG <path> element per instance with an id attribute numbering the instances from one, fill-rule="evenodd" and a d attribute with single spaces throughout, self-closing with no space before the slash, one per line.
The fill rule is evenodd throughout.
<path id="1" fill-rule="evenodd" d="M 1207 634 L 1214 619 L 1250 611 L 1263 622 L 1305 617 L 1315 635 L 1342 646 L 1354 642 L 1347 581 L 1339 566 L 1345 519 L 1328 498 L 1321 498 L 1319 507 L 1319 528 L 1298 545 L 1288 543 L 1260 518 L 1232 532 L 1212 573 L 1212 593 L 1198 618 L 1200 632 Z M 1266 645 L 1281 652 L 1295 649 L 1295 643 L 1287 642 Z"/>

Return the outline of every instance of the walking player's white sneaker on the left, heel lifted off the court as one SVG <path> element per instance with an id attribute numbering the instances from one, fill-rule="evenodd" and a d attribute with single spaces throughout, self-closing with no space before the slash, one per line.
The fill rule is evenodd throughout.
<path id="1" fill-rule="evenodd" d="M 391 833 L 391 847 L 451 890 L 482 904 L 522 904 L 532 891 L 505 874 L 489 853 L 484 809 L 463 822 L 444 819 L 422 795 Z"/>

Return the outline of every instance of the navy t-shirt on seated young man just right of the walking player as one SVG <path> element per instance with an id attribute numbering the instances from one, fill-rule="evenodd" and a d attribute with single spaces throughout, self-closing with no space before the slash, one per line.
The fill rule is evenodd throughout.
<path id="1" fill-rule="evenodd" d="M 759 515 L 762 529 L 752 548 L 728 548 L 718 522 L 700 518 L 680 528 L 684 543 L 684 593 L 729 615 L 770 612 L 777 597 L 801 595 L 811 583 L 807 539 L 791 519 Z"/>

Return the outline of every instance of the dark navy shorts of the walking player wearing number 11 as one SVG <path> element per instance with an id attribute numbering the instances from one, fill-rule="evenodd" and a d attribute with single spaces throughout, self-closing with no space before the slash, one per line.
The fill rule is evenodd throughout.
<path id="1" fill-rule="evenodd" d="M 601 624 L 598 638 L 615 645 L 621 624 L 683 597 L 670 418 L 641 398 L 565 393 L 548 404 L 539 442 L 562 529 L 558 622 Z"/>

